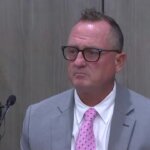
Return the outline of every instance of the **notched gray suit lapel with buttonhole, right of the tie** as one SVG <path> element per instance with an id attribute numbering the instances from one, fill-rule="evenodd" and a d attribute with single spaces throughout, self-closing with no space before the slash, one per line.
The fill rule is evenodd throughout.
<path id="1" fill-rule="evenodd" d="M 127 89 L 117 85 L 108 150 L 127 150 L 134 130 L 134 108 Z"/>

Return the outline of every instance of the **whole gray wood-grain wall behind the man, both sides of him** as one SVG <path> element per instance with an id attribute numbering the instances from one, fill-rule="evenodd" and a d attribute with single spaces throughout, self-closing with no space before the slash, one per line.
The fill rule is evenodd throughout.
<path id="1" fill-rule="evenodd" d="M 61 45 L 81 11 L 93 7 L 123 30 L 128 59 L 117 79 L 150 97 L 149 0 L 1 0 L 0 102 L 5 104 L 11 94 L 17 102 L 6 115 L 0 150 L 20 149 L 28 105 L 70 87 Z"/>

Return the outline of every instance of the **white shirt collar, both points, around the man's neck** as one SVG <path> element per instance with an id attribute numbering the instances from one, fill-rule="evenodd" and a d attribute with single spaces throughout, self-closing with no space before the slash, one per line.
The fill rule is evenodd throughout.
<path id="1" fill-rule="evenodd" d="M 107 122 L 110 120 L 111 118 L 110 116 L 113 113 L 115 96 L 116 96 L 116 83 L 114 83 L 113 90 L 99 104 L 93 107 L 98 112 L 99 116 L 101 117 L 101 119 L 104 121 L 105 124 L 107 124 Z M 76 90 L 74 92 L 74 97 L 75 97 L 75 116 L 77 122 L 80 124 L 84 113 L 90 107 L 85 105 L 81 101 Z"/>

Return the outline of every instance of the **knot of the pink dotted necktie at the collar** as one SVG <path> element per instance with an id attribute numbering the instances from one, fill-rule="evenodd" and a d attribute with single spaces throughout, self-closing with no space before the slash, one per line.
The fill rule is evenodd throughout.
<path id="1" fill-rule="evenodd" d="M 93 121 L 97 115 L 97 111 L 94 108 L 89 108 L 85 114 L 84 114 L 84 119 L 88 121 Z"/>

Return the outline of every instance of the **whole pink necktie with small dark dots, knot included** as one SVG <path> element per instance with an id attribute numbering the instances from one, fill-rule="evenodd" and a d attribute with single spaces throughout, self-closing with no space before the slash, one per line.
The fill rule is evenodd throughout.
<path id="1" fill-rule="evenodd" d="M 84 120 L 76 140 L 75 150 L 96 150 L 93 132 L 93 121 L 96 115 L 97 112 L 94 108 L 90 108 L 85 112 Z"/>

